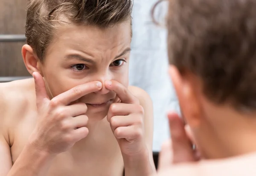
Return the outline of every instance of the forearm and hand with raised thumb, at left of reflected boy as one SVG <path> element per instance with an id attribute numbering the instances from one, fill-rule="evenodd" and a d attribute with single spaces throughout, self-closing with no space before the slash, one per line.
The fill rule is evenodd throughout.
<path id="1" fill-rule="evenodd" d="M 55 156 L 58 153 L 69 150 L 77 141 L 85 138 L 88 134 L 86 127 L 88 117 L 84 115 L 87 112 L 86 104 L 76 103 L 70 105 L 71 102 L 102 89 L 101 82 L 93 81 L 74 87 L 50 100 L 47 95 L 44 78 L 38 72 L 34 72 L 33 77 L 35 79 L 38 110 L 37 124 L 29 138 L 29 142 L 20 153 L 7 176 L 46 176 Z M 0 89 L 0 92 L 5 91 Z M 6 89 L 6 92 L 8 93 L 8 89 Z M 9 98 L 6 98 L 6 100 L 9 100 Z M 12 100 L 15 100 L 15 98 L 12 98 Z M 0 99 L 0 101 L 3 100 Z M 13 110 L 11 109 L 12 103 L 9 102 L 8 107 L 10 107 L 10 110 L 7 111 Z M 2 102 L 2 104 L 5 103 Z M 73 118 L 78 116 L 80 118 Z M 8 118 L 9 116 L 5 114 L 2 117 Z M 8 159 L 9 157 L 7 156 L 6 161 Z M 9 169 L 10 164 L 5 167 L 6 171 L 0 176 L 6 176 L 6 172 Z"/>

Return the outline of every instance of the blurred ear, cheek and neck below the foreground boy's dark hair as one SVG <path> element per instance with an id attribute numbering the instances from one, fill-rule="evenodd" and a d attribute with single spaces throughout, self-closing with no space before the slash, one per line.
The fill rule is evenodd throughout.
<path id="1" fill-rule="evenodd" d="M 256 152 L 256 142 L 253 142 L 256 136 L 255 112 L 238 112 L 228 102 L 213 103 L 204 95 L 201 79 L 188 70 L 180 74 L 175 66 L 170 66 L 169 75 L 177 92 L 183 119 L 189 125 L 204 159 Z"/>

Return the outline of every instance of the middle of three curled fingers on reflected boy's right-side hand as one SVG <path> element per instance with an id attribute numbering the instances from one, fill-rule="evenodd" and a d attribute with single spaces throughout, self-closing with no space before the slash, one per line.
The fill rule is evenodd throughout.
<path id="1" fill-rule="evenodd" d="M 110 120 L 111 129 L 114 131 L 118 127 L 128 127 L 131 125 L 143 124 L 143 118 L 140 116 L 126 115 L 126 116 L 113 116 Z"/>

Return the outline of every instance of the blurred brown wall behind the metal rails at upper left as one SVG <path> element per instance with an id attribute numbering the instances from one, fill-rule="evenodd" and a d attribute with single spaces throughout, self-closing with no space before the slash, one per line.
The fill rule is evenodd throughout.
<path id="1" fill-rule="evenodd" d="M 3 42 L 3 35 L 24 35 L 26 0 L 0 0 L 0 77 L 29 76 L 21 57 L 25 42 Z M 7 36 L 10 38 L 10 36 Z M 11 79 L 11 78 L 10 78 Z"/>

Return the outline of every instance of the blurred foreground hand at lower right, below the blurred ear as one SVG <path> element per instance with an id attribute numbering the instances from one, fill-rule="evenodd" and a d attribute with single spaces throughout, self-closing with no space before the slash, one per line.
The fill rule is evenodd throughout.
<path id="1" fill-rule="evenodd" d="M 163 144 L 159 158 L 159 170 L 182 162 L 196 162 L 200 159 L 199 152 L 193 150 L 195 144 L 188 125 L 176 113 L 168 114 L 171 139 Z"/>

